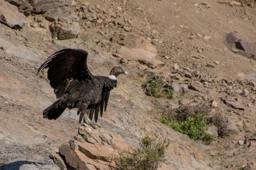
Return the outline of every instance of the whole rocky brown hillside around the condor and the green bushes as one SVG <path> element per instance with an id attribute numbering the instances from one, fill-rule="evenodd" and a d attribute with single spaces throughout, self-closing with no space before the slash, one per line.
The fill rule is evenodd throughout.
<path id="1" fill-rule="evenodd" d="M 137 147 L 145 133 L 170 141 L 159 169 L 255 168 L 255 1 L 2 0 L 0 5 L 1 170 L 110 169 L 118 151 Z M 234 42 L 246 42 L 243 48 L 227 43 L 230 32 L 238 37 Z M 46 72 L 36 71 L 63 48 L 88 51 L 94 75 L 108 75 L 116 65 L 128 72 L 119 77 L 97 124 L 80 126 L 76 110 L 56 121 L 42 118 L 55 95 Z M 173 99 L 146 96 L 141 82 L 148 74 L 172 82 Z M 234 133 L 207 146 L 158 120 L 159 108 L 200 102 L 225 115 Z"/>

